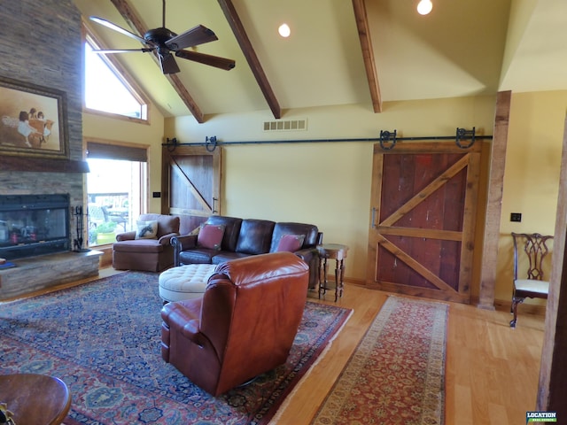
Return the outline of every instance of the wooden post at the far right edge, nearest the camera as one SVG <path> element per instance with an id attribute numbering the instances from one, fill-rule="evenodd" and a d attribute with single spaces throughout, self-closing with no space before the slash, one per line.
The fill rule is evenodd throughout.
<path id="1" fill-rule="evenodd" d="M 541 352 L 540 386 L 536 410 L 557 412 L 558 423 L 567 421 L 567 117 L 563 130 L 563 154 L 557 216 L 555 219 L 554 253 L 551 266 L 546 327 Z"/>

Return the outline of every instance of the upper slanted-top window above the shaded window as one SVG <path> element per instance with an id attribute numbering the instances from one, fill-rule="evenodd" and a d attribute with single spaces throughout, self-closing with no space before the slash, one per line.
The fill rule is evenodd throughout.
<path id="1" fill-rule="evenodd" d="M 85 37 L 85 107 L 137 120 L 147 120 L 147 102 L 124 76 L 118 62 L 100 49 L 89 33 Z M 108 55 L 109 57 L 112 55 Z"/>

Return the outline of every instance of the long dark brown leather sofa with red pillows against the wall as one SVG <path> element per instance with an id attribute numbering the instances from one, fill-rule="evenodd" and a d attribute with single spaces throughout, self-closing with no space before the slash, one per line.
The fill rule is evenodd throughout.
<path id="1" fill-rule="evenodd" d="M 175 267 L 186 264 L 221 264 L 231 259 L 276 252 L 283 236 L 300 236 L 302 243 L 293 253 L 309 266 L 309 288 L 319 282 L 319 254 L 316 245 L 322 243 L 322 232 L 313 224 L 240 219 L 213 215 L 204 225 L 221 226 L 224 230 L 220 246 L 211 249 L 199 245 L 198 235 L 175 236 Z"/>

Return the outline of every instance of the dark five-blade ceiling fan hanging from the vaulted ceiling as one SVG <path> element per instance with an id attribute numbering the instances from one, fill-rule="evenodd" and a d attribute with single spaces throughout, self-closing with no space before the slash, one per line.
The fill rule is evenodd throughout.
<path id="1" fill-rule="evenodd" d="M 119 27 L 113 22 L 98 18 L 96 16 L 91 16 L 90 20 L 97 22 L 97 24 L 104 25 L 105 27 L 111 28 L 114 31 L 119 32 L 123 35 L 128 35 L 139 42 L 142 42 L 144 46 L 141 49 L 122 49 L 122 50 L 92 50 L 95 53 L 127 53 L 132 51 L 143 51 L 155 52 L 159 58 L 159 65 L 161 66 L 162 73 L 178 73 L 180 71 L 179 66 L 175 62 L 175 58 L 172 54 L 175 53 L 177 58 L 183 58 L 198 62 L 199 64 L 204 64 L 208 66 L 214 66 L 217 68 L 229 71 L 234 68 L 235 61 L 227 58 L 219 58 L 218 56 L 207 55 L 205 53 L 199 53 L 192 50 L 183 50 L 188 47 L 197 46 L 198 44 L 203 44 L 205 42 L 214 42 L 218 40 L 214 32 L 202 25 L 193 27 L 184 33 L 177 35 L 173 31 L 167 29 L 166 27 L 166 0 L 162 2 L 162 24 L 159 28 L 154 28 L 146 31 L 143 37 L 131 33 L 127 29 Z"/>

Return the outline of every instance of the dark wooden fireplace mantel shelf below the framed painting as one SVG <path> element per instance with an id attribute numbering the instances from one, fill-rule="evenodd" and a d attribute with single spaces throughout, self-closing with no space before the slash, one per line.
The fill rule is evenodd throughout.
<path id="1" fill-rule="evenodd" d="M 54 158 L 27 158 L 0 156 L 2 171 L 25 171 L 35 173 L 89 173 L 87 161 Z"/>

